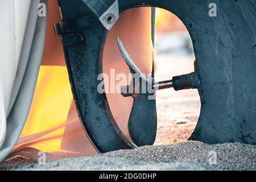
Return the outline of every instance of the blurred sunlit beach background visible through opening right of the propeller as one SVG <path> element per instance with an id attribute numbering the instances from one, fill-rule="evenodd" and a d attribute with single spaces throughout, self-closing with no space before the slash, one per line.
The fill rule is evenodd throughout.
<path id="1" fill-rule="evenodd" d="M 157 8 L 155 28 L 156 81 L 193 72 L 193 44 L 183 22 L 169 11 Z M 155 145 L 186 140 L 195 129 L 200 114 L 197 90 L 160 90 L 156 105 L 158 133 Z"/>

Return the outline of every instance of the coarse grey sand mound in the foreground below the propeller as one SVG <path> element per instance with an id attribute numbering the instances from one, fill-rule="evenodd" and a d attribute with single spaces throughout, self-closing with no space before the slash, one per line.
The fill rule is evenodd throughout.
<path id="1" fill-rule="evenodd" d="M 212 154 L 216 154 L 216 160 L 212 160 Z M 255 154 L 256 147 L 247 144 L 181 142 L 6 170 L 255 170 Z"/>

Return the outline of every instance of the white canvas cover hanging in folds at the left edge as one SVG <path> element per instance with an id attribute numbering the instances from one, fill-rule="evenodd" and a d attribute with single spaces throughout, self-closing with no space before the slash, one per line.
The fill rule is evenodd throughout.
<path id="1" fill-rule="evenodd" d="M 15 146 L 34 94 L 46 35 L 39 3 L 0 1 L 0 161 Z"/>

